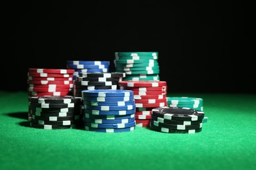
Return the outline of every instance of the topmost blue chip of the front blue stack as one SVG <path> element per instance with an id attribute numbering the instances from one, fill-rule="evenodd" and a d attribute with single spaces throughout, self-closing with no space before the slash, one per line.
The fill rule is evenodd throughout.
<path id="1" fill-rule="evenodd" d="M 89 97 L 129 97 L 133 90 L 85 90 L 83 96 Z"/>

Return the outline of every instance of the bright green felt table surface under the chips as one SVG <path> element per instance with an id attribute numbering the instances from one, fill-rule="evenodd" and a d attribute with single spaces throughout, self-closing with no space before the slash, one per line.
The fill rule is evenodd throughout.
<path id="1" fill-rule="evenodd" d="M 0 92 L 0 169 L 255 169 L 256 95 L 168 93 L 202 97 L 200 133 L 136 127 L 123 133 L 28 127 L 26 92 Z"/>

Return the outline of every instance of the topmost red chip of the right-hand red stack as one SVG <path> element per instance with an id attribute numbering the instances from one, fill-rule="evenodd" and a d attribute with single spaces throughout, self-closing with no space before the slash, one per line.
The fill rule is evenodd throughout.
<path id="1" fill-rule="evenodd" d="M 167 82 L 165 81 L 119 81 L 119 86 L 125 87 L 160 87 L 167 86 Z"/>

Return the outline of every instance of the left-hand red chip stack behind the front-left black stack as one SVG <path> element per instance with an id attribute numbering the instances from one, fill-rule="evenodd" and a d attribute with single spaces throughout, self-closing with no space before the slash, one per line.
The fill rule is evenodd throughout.
<path id="1" fill-rule="evenodd" d="M 32 96 L 71 95 L 74 69 L 28 69 L 28 98 Z M 32 119 L 30 107 L 28 120 Z"/>

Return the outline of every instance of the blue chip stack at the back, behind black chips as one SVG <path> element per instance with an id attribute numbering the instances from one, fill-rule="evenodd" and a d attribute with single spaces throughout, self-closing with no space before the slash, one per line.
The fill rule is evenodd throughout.
<path id="1" fill-rule="evenodd" d="M 74 69 L 74 80 L 79 73 L 108 73 L 110 61 L 67 61 L 67 68 Z"/>

